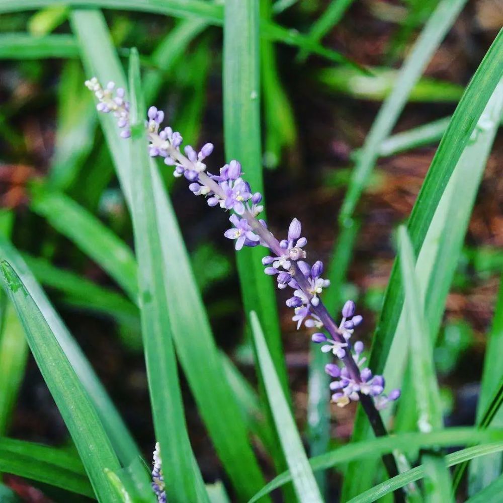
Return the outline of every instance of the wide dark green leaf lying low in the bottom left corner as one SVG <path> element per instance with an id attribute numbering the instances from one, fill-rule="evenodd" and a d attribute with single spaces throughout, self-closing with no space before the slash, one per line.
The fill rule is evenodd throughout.
<path id="1" fill-rule="evenodd" d="M 0 471 L 94 496 L 80 459 L 55 447 L 0 438 Z"/>

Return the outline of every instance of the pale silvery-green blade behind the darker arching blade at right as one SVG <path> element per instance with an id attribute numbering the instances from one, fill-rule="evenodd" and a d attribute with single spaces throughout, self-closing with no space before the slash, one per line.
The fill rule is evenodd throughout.
<path id="1" fill-rule="evenodd" d="M 488 101 L 482 117 L 498 118 L 503 110 L 503 94 L 498 85 L 490 100 Z M 486 124 L 485 119 L 480 119 L 480 123 Z M 476 140 L 469 141 L 461 155 L 453 176 L 449 180 L 447 187 L 438 204 L 435 215 L 428 228 L 421 251 L 418 253 L 416 272 L 420 280 L 422 296 L 425 299 L 425 313 L 429 324 L 429 331 L 432 337 L 432 344 L 435 343 L 443 306 L 447 298 L 452 277 L 459 257 L 463 237 L 466 233 L 471 210 L 475 202 L 478 186 L 482 178 L 485 163 L 489 155 L 498 120 L 491 127 L 481 131 L 477 126 Z M 445 227 L 449 225 L 451 231 L 445 232 Z M 449 234 L 449 236 L 446 236 Z M 448 238 L 447 238 L 448 237 Z M 442 265 L 441 265 L 442 264 Z M 396 267 L 396 266 L 395 266 Z M 395 288 L 399 288 L 400 281 L 397 276 Z M 430 302 L 427 292 L 431 291 L 436 298 L 436 303 Z M 388 286 L 388 294 L 385 297 L 384 309 L 389 302 L 391 287 Z M 396 299 L 395 299 L 396 300 Z M 400 306 L 398 320 L 392 325 L 394 330 L 393 342 L 389 354 L 386 356 L 384 376 L 390 388 L 402 386 L 402 376 L 407 359 L 408 336 L 405 324 L 403 308 Z M 373 350 L 374 351 L 374 350 Z M 380 372 L 380 371 L 379 371 Z M 403 395 L 400 398 L 399 415 L 397 426 L 401 424 L 412 424 L 415 417 L 415 400 L 412 390 L 407 384 L 403 386 Z M 384 411 L 384 415 L 388 415 Z M 403 416 L 403 417 L 402 417 Z M 410 416 L 412 416 L 410 418 Z M 359 432 L 357 439 L 368 438 L 372 433 L 368 427 L 365 415 L 358 411 L 355 431 Z M 361 467 L 354 466 L 361 470 Z M 370 467 L 366 467 L 363 473 L 373 473 Z M 370 477 L 362 475 L 358 478 L 360 490 L 362 492 L 369 487 Z M 355 480 L 355 479 L 352 479 Z M 356 482 L 354 482 L 356 484 Z"/>

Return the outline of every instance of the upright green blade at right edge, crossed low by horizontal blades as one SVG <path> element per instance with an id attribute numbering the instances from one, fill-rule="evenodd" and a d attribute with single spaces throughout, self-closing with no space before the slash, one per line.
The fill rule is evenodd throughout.
<path id="1" fill-rule="evenodd" d="M 498 385 L 498 378 L 501 378 L 501 371 L 498 372 L 497 369 L 500 367 L 499 362 L 503 354 L 503 279 L 499 285 L 492 327 L 486 344 L 484 369 L 477 404 L 477 421 L 481 421 L 484 409 L 489 404 L 489 400 Z M 503 426 L 503 408 L 499 409 L 491 422 L 491 427 L 493 428 L 501 426 Z M 473 461 L 470 464 L 468 476 L 469 494 L 475 495 L 475 493 L 489 485 L 494 479 L 498 477 L 501 479 L 499 474 L 501 473 L 502 464 L 503 459 L 501 455 L 486 456 L 485 458 Z"/>

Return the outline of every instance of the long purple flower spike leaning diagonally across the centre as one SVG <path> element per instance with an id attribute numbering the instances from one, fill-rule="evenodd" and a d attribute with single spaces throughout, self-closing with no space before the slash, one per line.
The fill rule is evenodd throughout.
<path id="1" fill-rule="evenodd" d="M 129 103 L 124 99 L 124 90 L 115 89 L 113 82 L 102 88 L 95 77 L 87 80 L 86 86 L 99 101 L 97 109 L 103 113 L 113 113 L 117 125 L 122 129 L 121 136 L 129 137 Z M 280 289 L 292 289 L 286 305 L 294 309 L 292 320 L 297 322 L 297 329 L 302 324 L 315 328 L 313 342 L 322 344 L 321 351 L 331 352 L 343 362 L 342 368 L 330 364 L 325 369 L 337 379 L 330 384 L 330 389 L 334 391 L 332 400 L 339 406 L 355 400 L 365 402 L 367 414 L 369 417 L 372 415 L 374 431 L 377 435 L 385 434 L 377 409 L 396 400 L 400 392 L 393 390 L 384 395 L 384 378 L 373 376 L 370 369 L 363 367 L 366 360 L 362 357 L 363 344 L 351 344 L 355 328 L 363 321 L 362 316 L 355 315 L 355 303 L 351 300 L 345 303 L 338 325 L 321 302 L 323 288 L 328 287 L 330 282 L 321 277 L 324 270 L 321 261 L 310 265 L 304 260 L 307 257 L 304 249 L 307 239 L 301 235 L 301 222 L 294 218 L 289 225 L 287 238 L 278 241 L 268 230 L 266 222 L 259 218 L 264 210 L 262 194 L 254 193 L 243 178 L 241 164 L 231 160 L 220 168 L 217 175 L 208 173 L 203 161 L 212 153 L 213 145 L 206 143 L 199 151 L 186 145 L 182 152 L 181 134 L 169 126 L 161 129 L 163 120 L 164 113 L 161 110 L 155 107 L 148 109 L 145 129 L 149 155 L 162 157 L 165 164 L 174 166 L 174 176 L 184 176 L 191 182 L 189 189 L 192 193 L 206 197 L 209 206 L 220 206 L 233 212 L 229 217 L 232 227 L 224 232 L 224 236 L 235 241 L 236 250 L 259 244 L 268 248 L 268 255 L 262 259 L 265 273 L 276 277 Z M 328 332 L 328 336 L 321 332 L 322 329 Z"/>

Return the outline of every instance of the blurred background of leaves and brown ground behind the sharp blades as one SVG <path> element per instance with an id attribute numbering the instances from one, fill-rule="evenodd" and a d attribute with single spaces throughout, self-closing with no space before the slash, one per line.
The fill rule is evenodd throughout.
<path id="1" fill-rule="evenodd" d="M 262 164 L 270 226 L 284 233 L 290 219 L 298 217 L 311 254 L 327 263 L 334 241 L 341 237 L 337 215 L 359 149 L 412 42 L 437 4 L 436 0 L 261 1 L 263 20 L 273 19 L 309 41 L 299 48 L 261 37 Z M 138 48 L 148 104 L 165 110 L 186 143 L 213 142 L 210 171 L 216 171 L 229 160 L 223 141 L 221 28 L 198 18 L 126 11 L 104 14 L 124 63 L 130 48 Z M 0 16 L 0 231 L 12 237 L 47 289 L 148 459 L 153 431 L 139 315 L 127 295 L 128 280 L 121 285 L 114 282 L 114 264 L 110 270 L 100 266 L 72 234 L 78 220 L 88 239 L 100 239 L 92 222 L 86 227 L 90 213 L 125 243 L 133 243 L 131 221 L 93 99 L 83 86 L 92 75 L 81 66 L 69 15 L 69 7 L 56 5 Z M 348 274 L 341 278 L 338 298 L 333 299 L 337 304 L 353 298 L 363 308 L 366 342 L 395 255 L 394 229 L 410 213 L 445 130 L 445 117 L 453 113 L 502 23 L 497 0 L 467 3 L 413 87 L 393 136 L 381 145 L 376 169 L 354 215 L 358 231 Z M 311 48 L 320 42 L 368 71 L 334 63 L 323 51 L 313 54 Z M 503 268 L 502 159 L 499 137 L 487 162 L 434 352 L 443 405 L 452 425 L 473 424 L 475 418 L 476 383 Z M 226 217 L 207 211 L 170 169 L 161 172 L 217 342 L 253 380 L 235 262 L 222 236 Z M 112 241 L 103 246 L 119 246 Z M 293 409 L 304 427 L 308 336 L 294 331 L 281 293 L 278 299 Z M 5 307 L 5 296 L 1 300 Z M 23 335 L 11 311 L 3 310 L 2 344 L 8 344 L 9 333 L 14 348 Z M 14 395 L 0 404 L 9 411 L 9 418 L 4 414 L 0 422 L 0 434 L 60 445 L 67 440 L 64 424 L 34 361 L 21 347 L 24 353 L 15 357 L 20 367 L 10 374 L 17 375 L 19 398 L 14 386 Z M 10 355 L 4 350 L 0 354 Z M 222 478 L 186 385 L 184 396 L 203 475 L 208 480 Z M 332 412 L 331 438 L 338 443 L 350 437 L 355 410 Z M 8 480 L 20 491 L 33 490 L 21 479 Z"/>

